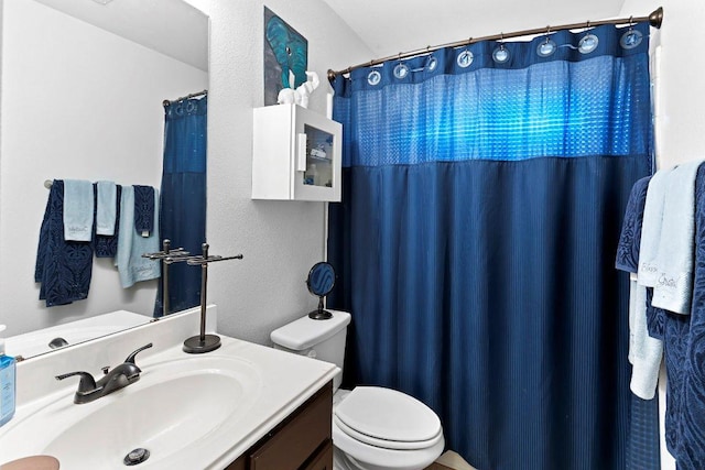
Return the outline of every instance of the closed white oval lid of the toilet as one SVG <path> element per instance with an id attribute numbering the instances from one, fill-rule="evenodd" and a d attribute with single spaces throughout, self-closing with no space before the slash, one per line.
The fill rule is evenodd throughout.
<path id="1" fill-rule="evenodd" d="M 334 420 L 347 435 L 378 447 L 424 448 L 443 433 L 438 416 L 404 393 L 358 386 L 335 409 Z"/>

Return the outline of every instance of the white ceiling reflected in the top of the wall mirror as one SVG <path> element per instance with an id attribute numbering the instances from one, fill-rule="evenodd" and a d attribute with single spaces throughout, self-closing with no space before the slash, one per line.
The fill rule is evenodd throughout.
<path id="1" fill-rule="evenodd" d="M 208 70 L 204 0 L 36 0 L 102 30 Z M 191 4 L 193 3 L 193 6 Z M 195 7 L 194 7 L 195 6 Z M 200 9 L 198 9 L 198 8 Z"/>

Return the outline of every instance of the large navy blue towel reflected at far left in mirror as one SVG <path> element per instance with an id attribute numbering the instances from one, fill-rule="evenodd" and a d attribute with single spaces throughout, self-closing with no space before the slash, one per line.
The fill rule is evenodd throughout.
<path id="1" fill-rule="evenodd" d="M 86 298 L 91 273 L 93 243 L 64 240 L 64 182 L 54 179 L 34 265 L 34 281 L 41 283 L 40 299 L 53 307 Z"/>

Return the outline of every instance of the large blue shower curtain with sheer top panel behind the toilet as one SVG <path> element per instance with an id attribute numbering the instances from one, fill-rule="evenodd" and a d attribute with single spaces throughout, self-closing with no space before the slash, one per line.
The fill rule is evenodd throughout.
<path id="1" fill-rule="evenodd" d="M 629 190 L 652 171 L 648 36 L 482 42 L 333 83 L 345 383 L 419 397 L 481 470 L 659 468 L 614 269 Z"/>

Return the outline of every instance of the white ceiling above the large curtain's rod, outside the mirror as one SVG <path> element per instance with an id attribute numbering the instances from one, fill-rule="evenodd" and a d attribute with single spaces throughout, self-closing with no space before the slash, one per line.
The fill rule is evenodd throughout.
<path id="1" fill-rule="evenodd" d="M 619 15 L 625 0 L 323 0 L 380 58 L 501 32 Z M 653 7 L 655 8 L 655 7 Z M 651 10 L 653 10 L 651 8 Z M 647 11 L 648 10 L 648 11 Z M 634 17 L 647 15 L 644 11 Z"/>

